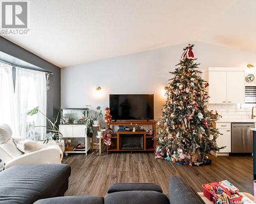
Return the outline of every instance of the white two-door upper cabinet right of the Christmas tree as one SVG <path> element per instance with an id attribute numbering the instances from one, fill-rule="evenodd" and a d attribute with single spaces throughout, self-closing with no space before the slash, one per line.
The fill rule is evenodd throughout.
<path id="1" fill-rule="evenodd" d="M 245 69 L 209 67 L 202 77 L 209 83 L 209 104 L 243 104 L 245 101 Z"/>

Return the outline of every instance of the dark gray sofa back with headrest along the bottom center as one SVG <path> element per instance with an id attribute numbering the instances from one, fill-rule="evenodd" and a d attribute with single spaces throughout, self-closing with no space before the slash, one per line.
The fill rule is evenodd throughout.
<path id="1" fill-rule="evenodd" d="M 105 197 L 64 196 L 41 199 L 34 204 L 200 204 L 204 201 L 178 176 L 169 181 L 169 198 L 155 184 L 114 184 Z"/>

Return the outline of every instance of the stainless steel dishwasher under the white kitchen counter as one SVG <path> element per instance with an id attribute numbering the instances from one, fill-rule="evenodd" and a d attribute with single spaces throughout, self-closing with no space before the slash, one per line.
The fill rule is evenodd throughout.
<path id="1" fill-rule="evenodd" d="M 254 123 L 232 123 L 231 124 L 231 152 L 251 153 L 252 152 L 252 131 Z"/>

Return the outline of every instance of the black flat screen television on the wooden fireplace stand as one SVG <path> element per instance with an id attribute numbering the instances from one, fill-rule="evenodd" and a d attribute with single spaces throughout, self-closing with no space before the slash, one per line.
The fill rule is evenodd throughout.
<path id="1" fill-rule="evenodd" d="M 110 94 L 113 120 L 154 120 L 154 94 Z"/>

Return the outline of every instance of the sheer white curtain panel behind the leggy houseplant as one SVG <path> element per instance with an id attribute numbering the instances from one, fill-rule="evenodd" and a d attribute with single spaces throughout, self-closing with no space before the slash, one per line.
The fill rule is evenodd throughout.
<path id="1" fill-rule="evenodd" d="M 31 69 L 16 67 L 15 82 L 15 123 L 18 124 L 18 136 L 21 138 L 30 138 L 29 128 L 35 126 L 46 126 L 46 73 Z M 28 116 L 27 112 L 35 107 L 44 114 L 37 113 Z M 34 140 L 42 140 L 46 132 L 45 128 L 36 128 L 36 137 Z M 34 137 L 34 136 L 33 136 Z"/>

